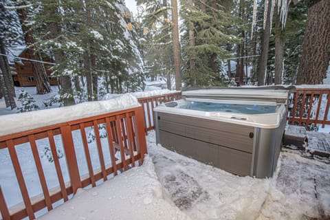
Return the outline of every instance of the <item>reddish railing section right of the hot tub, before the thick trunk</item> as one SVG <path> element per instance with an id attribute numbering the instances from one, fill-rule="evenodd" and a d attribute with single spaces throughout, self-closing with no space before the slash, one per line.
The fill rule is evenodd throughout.
<path id="1" fill-rule="evenodd" d="M 289 124 L 299 126 L 317 126 L 330 124 L 329 88 L 300 88 L 296 89 L 290 96 L 289 113 L 287 120 Z"/>

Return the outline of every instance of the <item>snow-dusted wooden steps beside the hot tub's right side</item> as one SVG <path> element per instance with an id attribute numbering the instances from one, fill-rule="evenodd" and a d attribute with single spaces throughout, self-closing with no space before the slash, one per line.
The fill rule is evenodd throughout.
<path id="1" fill-rule="evenodd" d="M 283 144 L 290 148 L 296 146 L 312 155 L 330 157 L 330 133 L 306 131 L 303 126 L 287 125 Z"/>

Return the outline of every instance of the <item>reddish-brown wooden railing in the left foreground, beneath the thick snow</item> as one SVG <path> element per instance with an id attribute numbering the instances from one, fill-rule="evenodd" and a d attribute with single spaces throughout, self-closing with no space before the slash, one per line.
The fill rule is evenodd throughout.
<path id="1" fill-rule="evenodd" d="M 89 118 L 83 118 L 70 122 L 63 122 L 50 126 L 23 131 L 0 137 L 0 149 L 9 151 L 12 167 L 17 177 L 19 189 L 23 202 L 16 206 L 8 207 L 3 194 L 3 188 L 0 186 L 0 211 L 3 219 L 23 219 L 28 217 L 34 219 L 35 213 L 39 210 L 47 208 L 52 210 L 56 201 L 67 201 L 69 195 L 72 195 L 78 188 L 87 186 L 94 187 L 99 181 L 106 181 L 112 175 L 125 171 L 135 164 L 142 164 L 144 154 L 146 153 L 146 140 L 144 135 L 144 113 L 142 107 L 126 109 L 114 113 L 106 113 Z M 101 143 L 99 129 L 102 126 L 106 133 L 107 139 L 103 139 Z M 91 147 L 87 141 L 86 129 L 94 130 L 94 138 L 98 154 L 98 168 L 96 169 L 94 161 L 91 161 Z M 80 135 L 73 135 L 73 133 Z M 61 137 L 61 143 L 65 162 L 67 164 L 67 174 L 69 181 L 65 181 L 63 177 L 63 167 L 60 165 L 58 158 L 58 142 L 54 141 L 54 137 Z M 103 134 L 104 135 L 104 134 Z M 76 139 L 80 138 L 81 151 L 85 151 L 85 166 L 88 171 L 80 173 L 77 161 L 77 144 Z M 46 139 L 50 145 L 52 159 L 56 169 L 56 179 L 59 183 L 56 188 L 47 186 L 45 178 L 45 170 L 42 166 L 39 156 L 38 140 Z M 107 140 L 107 151 L 104 150 L 104 140 Z M 23 145 L 21 145 L 23 144 Z M 24 167 L 20 164 L 17 149 L 25 147 L 26 151 L 32 151 L 34 164 L 36 166 L 36 179 L 41 184 L 42 192 L 37 196 L 30 196 L 27 187 L 26 177 L 23 175 Z M 30 149 L 28 149 L 30 148 Z M 96 151 L 96 149 L 94 148 Z M 104 152 L 108 152 L 106 155 Z M 117 153 L 115 157 L 115 153 Z M 109 155 L 110 154 L 110 155 Z M 120 155 L 118 159 L 118 154 Z M 81 152 L 80 152 L 81 155 Z M 95 154 L 94 154 L 95 156 Z M 63 159 L 63 158 L 62 158 Z M 63 162 L 61 160 L 61 162 Z M 2 162 L 1 162 L 2 163 Z M 80 162 L 79 162 L 80 163 Z M 2 164 L 1 164 L 2 166 Z M 31 184 L 31 183 L 30 183 Z M 38 184 L 36 182 L 32 184 Z M 45 210 L 45 212 L 47 212 Z"/>

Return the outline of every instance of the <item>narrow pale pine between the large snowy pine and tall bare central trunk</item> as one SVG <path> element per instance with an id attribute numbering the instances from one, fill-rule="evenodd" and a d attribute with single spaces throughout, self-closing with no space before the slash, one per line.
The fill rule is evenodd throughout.
<path id="1" fill-rule="evenodd" d="M 138 0 L 137 5 L 143 6 L 140 12 L 140 26 L 143 34 L 142 47 L 144 65 L 154 80 L 157 76 L 166 79 L 167 88 L 171 89 L 171 75 L 173 73 L 173 41 L 172 22 L 170 19 L 170 5 L 168 0 L 146 1 Z"/>

